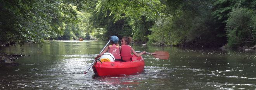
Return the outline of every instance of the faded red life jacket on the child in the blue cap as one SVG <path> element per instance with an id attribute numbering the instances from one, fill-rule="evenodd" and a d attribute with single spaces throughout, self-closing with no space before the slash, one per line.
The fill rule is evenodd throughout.
<path id="1" fill-rule="evenodd" d="M 113 54 L 115 59 L 121 60 L 120 47 L 116 46 L 116 44 L 109 45 L 109 53 Z"/>

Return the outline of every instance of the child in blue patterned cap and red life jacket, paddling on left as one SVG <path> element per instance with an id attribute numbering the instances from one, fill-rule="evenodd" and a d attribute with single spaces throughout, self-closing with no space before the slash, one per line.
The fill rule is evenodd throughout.
<path id="1" fill-rule="evenodd" d="M 96 56 L 95 59 L 102 56 L 102 54 L 106 53 L 107 51 L 111 54 L 113 54 L 116 62 L 121 62 L 121 56 L 120 56 L 120 50 L 121 46 L 118 44 L 119 38 L 117 36 L 111 36 L 110 37 L 110 45 L 107 46 L 102 53 L 100 53 L 98 56 Z"/>

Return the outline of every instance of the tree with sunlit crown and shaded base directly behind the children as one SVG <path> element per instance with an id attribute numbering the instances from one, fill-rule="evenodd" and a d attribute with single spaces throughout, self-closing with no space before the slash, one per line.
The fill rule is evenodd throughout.
<path id="1" fill-rule="evenodd" d="M 95 29 L 106 30 L 104 38 L 133 36 L 135 41 L 145 42 L 152 19 L 161 15 L 162 8 L 164 5 L 159 0 L 100 0 L 91 8 L 94 11 L 91 21 Z"/>

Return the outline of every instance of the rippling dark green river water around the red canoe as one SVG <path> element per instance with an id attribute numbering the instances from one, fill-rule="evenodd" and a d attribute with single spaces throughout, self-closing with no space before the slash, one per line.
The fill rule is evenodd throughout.
<path id="1" fill-rule="evenodd" d="M 145 68 L 137 75 L 98 77 L 83 74 L 106 41 L 46 41 L 2 47 L 23 54 L 17 66 L 0 66 L 0 90 L 255 90 L 256 52 L 187 49 L 132 44 L 136 51 L 168 51 L 168 60 L 143 55 Z M 29 56 L 28 56 L 29 55 Z"/>

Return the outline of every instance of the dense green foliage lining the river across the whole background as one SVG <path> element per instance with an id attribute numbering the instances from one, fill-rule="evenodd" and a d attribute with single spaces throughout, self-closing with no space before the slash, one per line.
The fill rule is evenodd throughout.
<path id="1" fill-rule="evenodd" d="M 187 47 L 254 46 L 255 0 L 1 0 L 0 44 L 108 39 Z"/>

